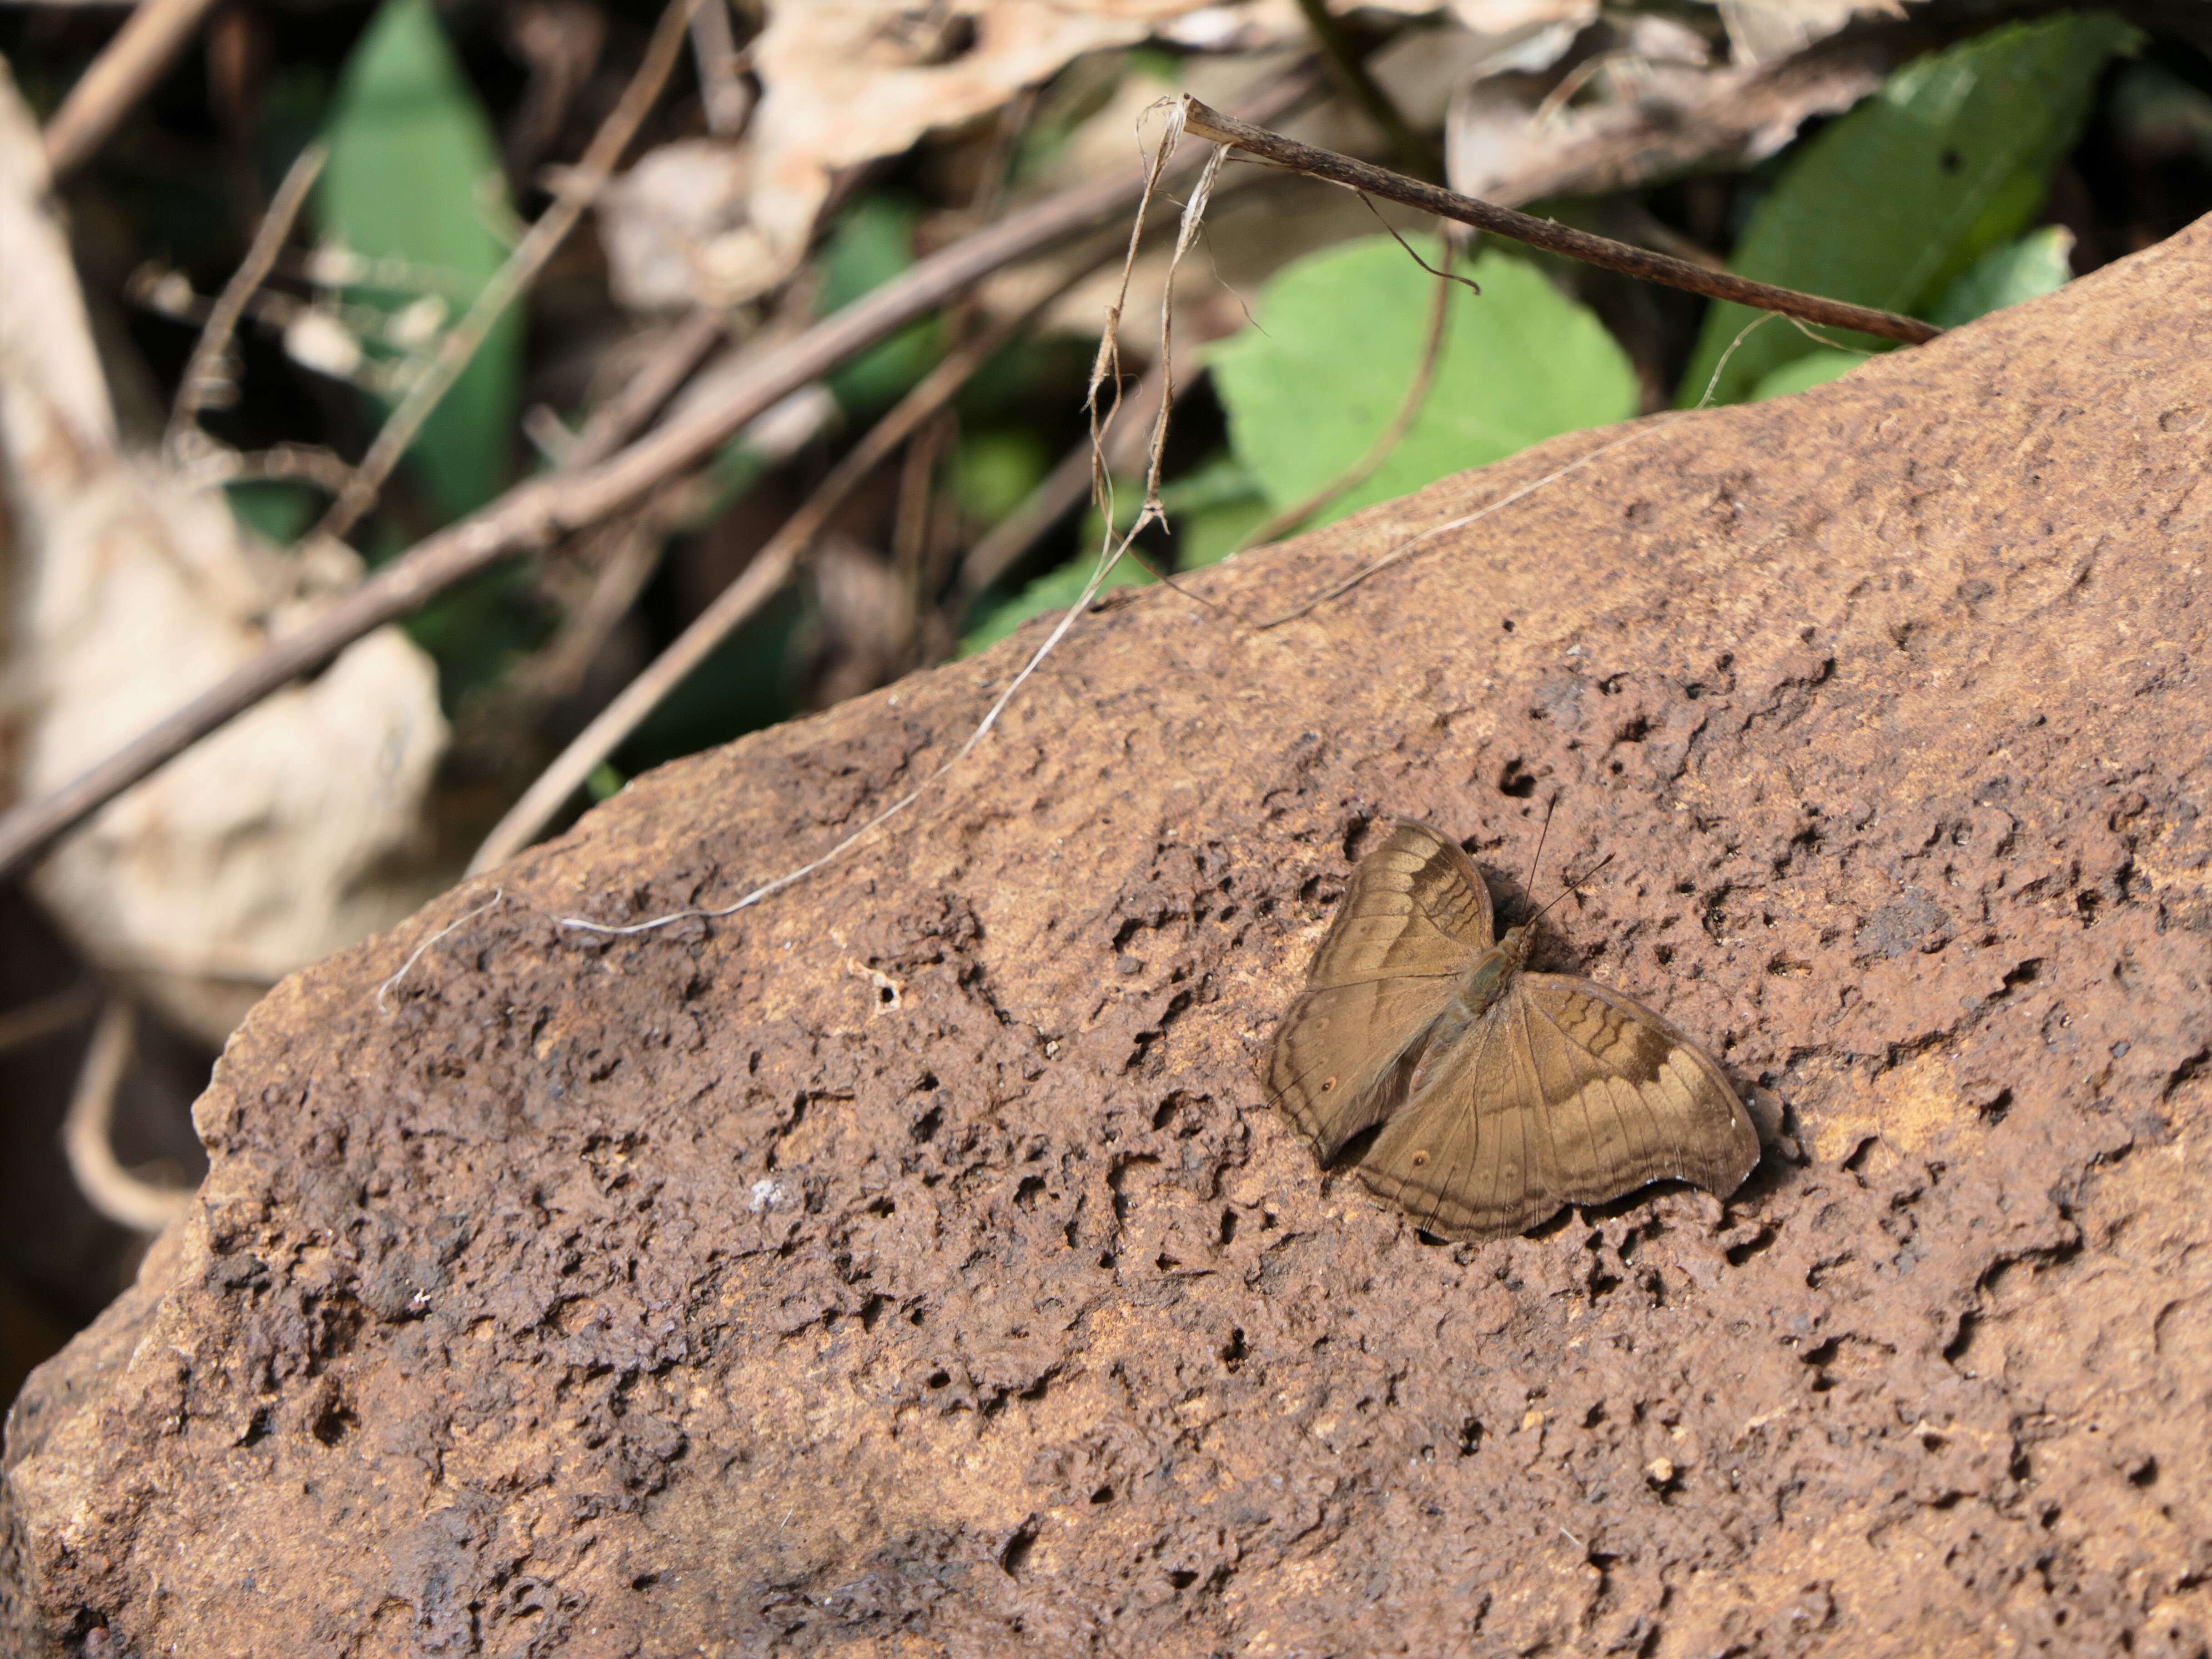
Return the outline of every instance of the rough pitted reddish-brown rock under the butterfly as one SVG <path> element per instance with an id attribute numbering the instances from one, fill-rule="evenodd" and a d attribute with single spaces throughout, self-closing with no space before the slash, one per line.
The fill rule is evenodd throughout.
<path id="1" fill-rule="evenodd" d="M 1577 456 L 1272 633 L 1086 619 L 737 918 L 555 925 L 814 856 L 1018 648 L 288 980 L 199 1217 L 9 1422 L 22 1648 L 2203 1652 L 2212 221 L 1201 586 Z M 1254 1062 L 1387 814 L 1511 905 L 1553 792 L 1537 894 L 1619 858 L 1537 967 L 1703 1037 L 1767 1157 L 1438 1245 Z"/>

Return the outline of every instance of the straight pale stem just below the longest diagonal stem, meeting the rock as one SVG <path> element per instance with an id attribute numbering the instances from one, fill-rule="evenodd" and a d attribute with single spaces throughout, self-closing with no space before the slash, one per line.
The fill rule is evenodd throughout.
<path id="1" fill-rule="evenodd" d="M 1068 283 L 1088 272 L 1068 272 Z M 529 847 L 568 799 L 584 787 L 584 781 L 637 730 L 637 726 L 661 706 L 684 679 L 703 664 L 714 648 L 728 639 L 754 611 L 768 604 L 799 568 L 799 562 L 814 546 L 830 520 L 867 482 L 869 473 L 889 460 L 907 438 L 951 403 L 991 356 L 1006 345 L 1048 303 L 1060 299 L 1066 283 L 1037 299 L 1020 316 L 1009 316 L 971 338 L 964 347 L 947 356 L 922 380 L 878 420 L 860 442 L 856 442 L 830 476 L 807 495 L 805 504 L 783 520 L 783 526 L 768 544 L 752 555 L 743 573 L 708 604 L 690 626 L 679 633 L 659 657 L 646 664 L 599 714 L 564 748 L 553 763 L 538 774 L 538 781 L 522 792 L 522 799 L 507 810 L 484 845 L 469 858 L 469 874 L 507 863 Z"/>

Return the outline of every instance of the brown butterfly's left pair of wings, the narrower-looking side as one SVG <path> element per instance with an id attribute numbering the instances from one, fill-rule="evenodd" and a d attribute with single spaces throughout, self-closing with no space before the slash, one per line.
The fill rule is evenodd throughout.
<path id="1" fill-rule="evenodd" d="M 1398 1108 L 1429 1026 L 1489 942 L 1473 863 L 1400 818 L 1352 872 L 1267 1051 L 1267 1093 L 1323 1159 Z"/>

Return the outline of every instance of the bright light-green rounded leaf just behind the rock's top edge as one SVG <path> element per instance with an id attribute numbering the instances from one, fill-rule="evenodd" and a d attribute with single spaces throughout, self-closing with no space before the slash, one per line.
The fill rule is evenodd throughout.
<path id="1" fill-rule="evenodd" d="M 1416 246 L 1442 257 L 1433 237 Z M 1453 288 L 1413 425 L 1310 526 L 1635 414 L 1635 369 L 1588 310 L 1509 254 L 1482 254 L 1473 276 L 1482 296 Z M 1396 239 L 1363 237 L 1285 265 L 1261 290 L 1256 325 L 1214 347 L 1230 447 L 1274 511 L 1343 478 L 1389 429 L 1420 367 L 1433 283 Z"/>

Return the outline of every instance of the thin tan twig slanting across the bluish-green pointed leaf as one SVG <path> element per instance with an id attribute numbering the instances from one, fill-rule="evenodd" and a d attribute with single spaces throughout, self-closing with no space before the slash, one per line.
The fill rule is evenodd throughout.
<path id="1" fill-rule="evenodd" d="M 438 341 L 438 354 L 416 376 L 414 385 L 407 387 L 407 396 L 400 398 L 398 407 L 385 420 L 383 431 L 376 434 L 369 453 L 354 467 L 354 478 L 345 493 L 323 515 L 323 524 L 319 526 L 323 535 L 345 535 L 376 504 L 376 493 L 385 487 L 385 478 L 398 467 L 400 456 L 414 445 L 422 422 L 429 420 L 431 411 L 453 387 L 453 380 L 469 367 L 469 358 L 476 356 L 476 349 L 515 296 L 531 285 L 540 265 L 568 239 L 568 232 L 575 230 L 577 219 L 599 197 L 599 190 L 606 188 L 606 181 L 615 175 L 615 164 L 622 161 L 622 153 L 630 148 L 639 124 L 644 124 L 653 104 L 659 102 L 661 88 L 668 84 L 668 73 L 684 53 L 684 33 L 690 24 L 690 13 L 701 2 L 668 2 L 653 31 L 653 40 L 646 44 L 644 62 L 637 64 L 637 73 L 624 88 L 622 100 L 599 124 L 599 131 L 593 133 L 584 157 L 562 173 L 553 206 L 538 215 L 522 234 L 522 241 L 515 243 L 515 250 L 507 254 L 507 263 L 478 290 L 460 323 Z"/>

